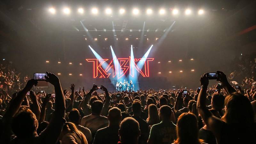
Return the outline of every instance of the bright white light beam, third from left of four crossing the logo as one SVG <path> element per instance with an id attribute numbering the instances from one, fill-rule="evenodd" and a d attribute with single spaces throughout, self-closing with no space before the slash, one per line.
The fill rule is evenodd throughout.
<path id="1" fill-rule="evenodd" d="M 135 66 L 134 64 L 135 64 L 135 62 L 134 62 L 133 47 L 131 45 L 130 74 L 133 74 L 133 76 L 129 75 L 129 81 L 132 80 L 132 83 L 134 84 L 134 91 L 136 91 L 136 90 L 140 89 L 140 86 L 138 83 L 138 73 L 136 70 L 134 71 L 134 66 Z M 132 72 L 131 72 L 131 70 L 132 70 Z M 130 82 L 128 82 L 128 83 L 130 83 Z"/>

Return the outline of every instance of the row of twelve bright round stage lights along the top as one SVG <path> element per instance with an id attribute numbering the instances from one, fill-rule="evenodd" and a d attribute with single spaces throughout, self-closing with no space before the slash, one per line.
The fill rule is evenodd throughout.
<path id="1" fill-rule="evenodd" d="M 48 11 L 49 11 L 51 14 L 56 14 L 56 12 L 57 12 L 57 10 L 56 10 L 54 7 L 49 8 Z M 68 15 L 68 14 L 71 13 L 71 9 L 68 8 L 68 7 L 64 7 L 64 8 L 62 9 L 62 12 L 63 12 L 64 14 Z M 78 14 L 84 14 L 84 12 L 85 12 L 85 11 L 84 11 L 83 8 L 78 8 L 78 9 L 77 9 L 77 13 L 78 13 Z M 126 10 L 125 10 L 124 8 L 119 9 L 119 14 L 120 14 L 120 15 L 124 15 L 125 12 L 126 12 Z M 166 11 L 166 9 L 161 8 L 161 9 L 159 9 L 158 14 L 159 14 L 159 15 L 165 15 L 165 14 L 167 14 L 167 12 L 168 12 L 168 11 Z M 179 11 L 178 9 L 171 9 L 170 12 L 172 13 L 172 15 L 178 15 L 178 14 L 180 13 L 180 11 Z M 91 9 L 91 13 L 92 13 L 93 15 L 99 14 L 98 8 L 96 8 L 96 7 L 92 8 L 92 9 Z M 112 11 L 111 8 L 106 8 L 106 9 L 105 9 L 105 14 L 106 14 L 106 15 L 111 15 L 112 13 L 114 13 L 114 12 Z M 153 12 L 152 9 L 147 9 L 147 10 L 146 10 L 146 14 L 147 14 L 147 15 L 151 15 L 151 14 L 153 14 L 153 13 L 154 13 L 154 12 Z M 189 8 L 184 11 L 184 14 L 185 14 L 185 15 L 190 15 L 190 14 L 192 14 L 192 13 L 193 13 L 193 11 L 192 11 L 191 9 L 189 9 Z M 133 15 L 139 15 L 139 14 L 140 14 L 140 10 L 137 9 L 137 8 L 134 8 L 134 9 L 132 9 L 132 14 L 133 14 Z M 203 15 L 203 14 L 204 14 L 204 10 L 203 10 L 203 9 L 198 10 L 198 11 L 197 11 L 197 14 L 198 14 L 198 15 Z"/>

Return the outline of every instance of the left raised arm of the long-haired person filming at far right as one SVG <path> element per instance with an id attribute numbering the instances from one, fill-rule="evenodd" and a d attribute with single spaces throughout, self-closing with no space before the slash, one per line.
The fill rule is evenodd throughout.
<path id="1" fill-rule="evenodd" d="M 201 83 L 201 90 L 199 92 L 197 103 L 196 103 L 198 113 L 204 120 L 204 123 L 209 127 L 209 129 L 216 136 L 216 138 L 219 139 L 220 130 L 224 122 L 221 119 L 213 116 L 210 110 L 206 107 L 206 96 L 207 96 L 206 91 L 207 91 L 207 86 L 209 84 L 209 80 L 207 79 L 206 74 L 201 76 L 200 83 Z"/>

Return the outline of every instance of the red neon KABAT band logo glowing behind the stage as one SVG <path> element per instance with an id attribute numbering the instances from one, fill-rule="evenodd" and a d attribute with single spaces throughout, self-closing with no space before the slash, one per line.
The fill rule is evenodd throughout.
<path id="1" fill-rule="evenodd" d="M 102 68 L 104 63 L 107 63 L 109 59 L 85 59 L 93 64 L 93 78 L 109 78 L 115 77 L 121 78 L 129 72 L 129 75 L 134 77 L 134 73 L 138 72 L 143 77 L 149 77 L 149 62 L 153 61 L 154 58 L 141 58 L 131 60 L 129 58 L 114 58 L 111 60 L 107 68 Z M 137 66 L 139 61 L 144 61 L 143 67 L 140 69 Z"/>

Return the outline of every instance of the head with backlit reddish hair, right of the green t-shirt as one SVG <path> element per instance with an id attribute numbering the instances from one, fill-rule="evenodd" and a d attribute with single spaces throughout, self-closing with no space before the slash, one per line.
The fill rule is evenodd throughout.
<path id="1" fill-rule="evenodd" d="M 197 118 L 192 113 L 183 113 L 177 121 L 177 140 L 175 143 L 199 144 Z"/>

